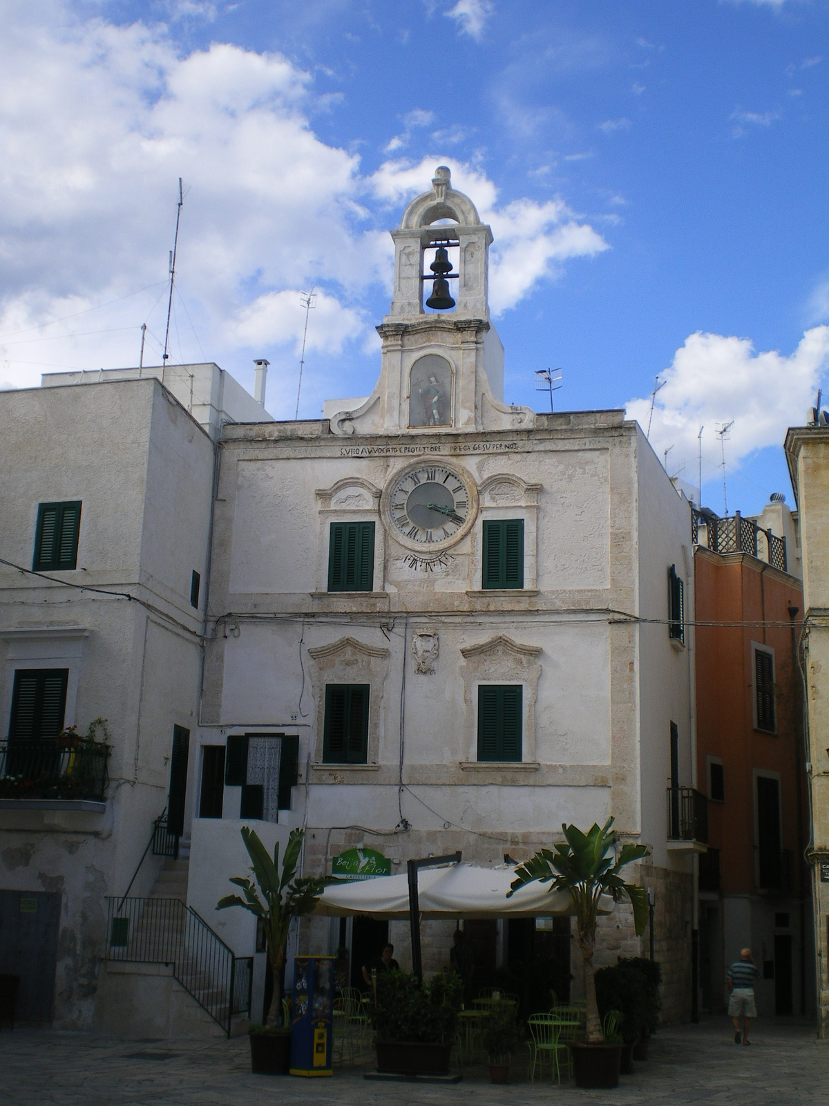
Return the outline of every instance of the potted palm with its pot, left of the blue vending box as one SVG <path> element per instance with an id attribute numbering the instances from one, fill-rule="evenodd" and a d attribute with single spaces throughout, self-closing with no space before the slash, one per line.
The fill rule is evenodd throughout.
<path id="1" fill-rule="evenodd" d="M 327 881 L 313 877 L 294 878 L 304 836 L 304 830 L 291 831 L 280 876 L 279 842 L 273 847 L 271 859 L 256 832 L 242 826 L 242 841 L 251 858 L 253 879 L 231 876 L 231 884 L 242 888 L 244 898 L 225 895 L 216 906 L 217 910 L 241 906 L 262 919 L 267 959 L 273 971 L 273 999 L 265 1024 L 249 1026 L 251 1067 L 259 1075 L 287 1075 L 291 1066 L 291 1026 L 281 1024 L 287 937 L 291 922 L 311 914 Z"/>

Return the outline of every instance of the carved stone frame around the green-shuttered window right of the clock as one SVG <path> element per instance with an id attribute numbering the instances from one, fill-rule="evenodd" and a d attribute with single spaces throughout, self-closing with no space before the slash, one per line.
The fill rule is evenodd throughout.
<path id="1" fill-rule="evenodd" d="M 479 487 L 479 512 L 472 530 L 469 591 L 474 595 L 526 595 L 538 593 L 538 493 L 542 484 L 527 483 L 512 472 L 496 472 Z M 524 522 L 524 586 L 505 589 L 483 587 L 483 524 L 508 519 Z"/>

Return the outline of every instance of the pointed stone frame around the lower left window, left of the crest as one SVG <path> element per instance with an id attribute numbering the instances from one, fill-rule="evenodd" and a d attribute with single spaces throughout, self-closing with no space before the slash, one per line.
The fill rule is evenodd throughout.
<path id="1" fill-rule="evenodd" d="M 380 763 L 382 689 L 389 675 L 390 649 L 366 645 L 350 636 L 308 649 L 312 660 L 311 687 L 314 697 L 315 732 L 312 763 L 317 771 L 355 772 L 377 770 Z M 368 742 L 365 764 L 328 764 L 323 760 L 326 684 L 368 684 Z"/>

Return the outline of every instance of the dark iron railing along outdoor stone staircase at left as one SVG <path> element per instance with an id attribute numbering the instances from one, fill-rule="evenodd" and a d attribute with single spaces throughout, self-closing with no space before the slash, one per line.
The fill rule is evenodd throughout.
<path id="1" fill-rule="evenodd" d="M 230 1036 L 251 1011 L 253 957 L 237 957 L 192 907 L 175 898 L 108 898 L 106 959 L 161 963 Z"/>

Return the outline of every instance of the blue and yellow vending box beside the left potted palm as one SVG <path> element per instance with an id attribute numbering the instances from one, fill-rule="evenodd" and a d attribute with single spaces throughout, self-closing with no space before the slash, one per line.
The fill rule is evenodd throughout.
<path id="1" fill-rule="evenodd" d="M 291 1074 L 333 1075 L 334 962 L 296 957 L 291 1020 Z"/>

